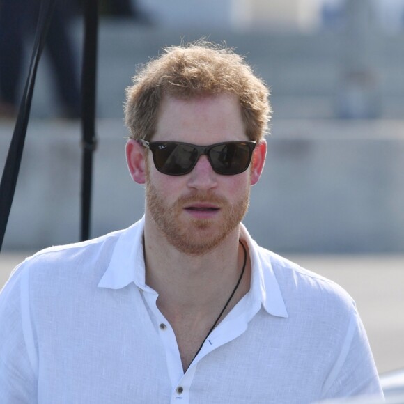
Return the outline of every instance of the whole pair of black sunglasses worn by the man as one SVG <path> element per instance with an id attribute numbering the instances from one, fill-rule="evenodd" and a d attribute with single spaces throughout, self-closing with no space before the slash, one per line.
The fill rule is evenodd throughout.
<path id="1" fill-rule="evenodd" d="M 148 142 L 143 139 L 139 143 L 151 150 L 156 169 L 168 176 L 190 173 L 201 155 L 208 156 L 216 173 L 234 176 L 247 170 L 256 147 L 255 141 L 226 141 L 210 146 L 196 146 L 180 141 Z"/>

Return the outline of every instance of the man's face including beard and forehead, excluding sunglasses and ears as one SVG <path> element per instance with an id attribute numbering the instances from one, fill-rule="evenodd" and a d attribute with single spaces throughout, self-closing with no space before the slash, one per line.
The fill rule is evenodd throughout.
<path id="1" fill-rule="evenodd" d="M 152 139 L 202 146 L 246 140 L 240 105 L 228 94 L 165 98 Z M 191 173 L 167 176 L 155 169 L 150 151 L 146 153 L 146 218 L 150 216 L 173 247 L 201 255 L 238 231 L 249 204 L 249 169 L 222 176 L 202 155 Z"/>

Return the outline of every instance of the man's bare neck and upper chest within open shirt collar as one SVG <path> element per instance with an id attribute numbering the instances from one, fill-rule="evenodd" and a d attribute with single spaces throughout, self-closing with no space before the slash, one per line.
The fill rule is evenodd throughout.
<path id="1" fill-rule="evenodd" d="M 162 236 L 152 241 L 146 226 L 146 284 L 159 293 L 157 307 L 173 327 L 186 370 L 235 289 L 244 258 L 246 267 L 240 284 L 217 324 L 249 290 L 247 243 L 244 256 L 237 229 L 212 251 L 191 256 L 173 248 Z"/>

